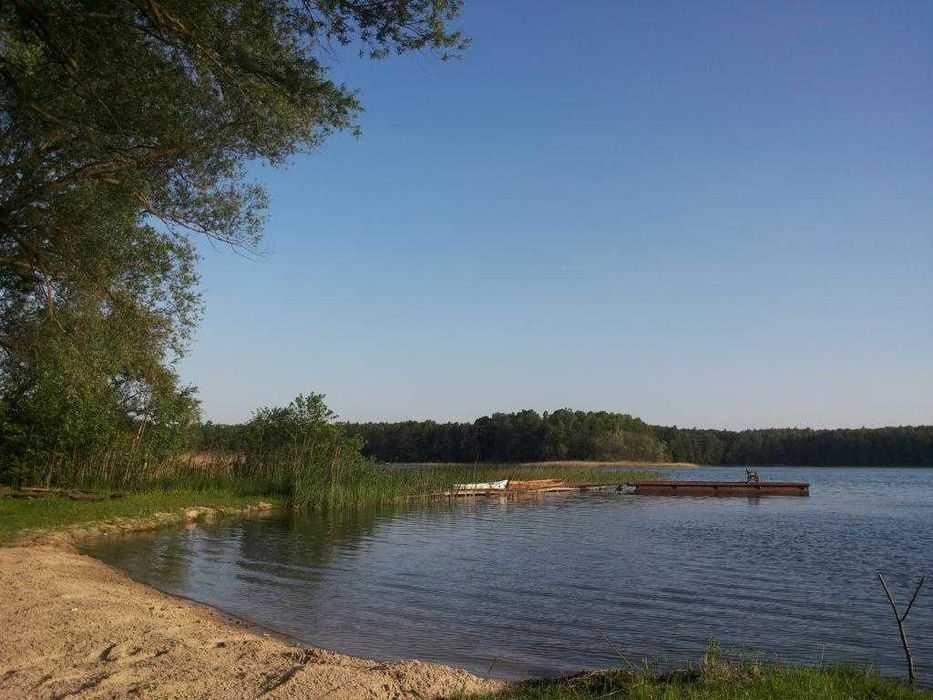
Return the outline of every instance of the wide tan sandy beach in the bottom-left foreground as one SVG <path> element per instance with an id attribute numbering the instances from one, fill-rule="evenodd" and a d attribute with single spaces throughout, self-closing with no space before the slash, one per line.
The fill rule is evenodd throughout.
<path id="1" fill-rule="evenodd" d="M 458 669 L 308 649 L 60 546 L 0 548 L 0 698 L 438 698 Z"/>

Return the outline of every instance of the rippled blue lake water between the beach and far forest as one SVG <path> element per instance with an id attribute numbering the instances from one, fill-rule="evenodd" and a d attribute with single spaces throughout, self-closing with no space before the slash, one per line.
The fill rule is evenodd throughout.
<path id="1" fill-rule="evenodd" d="M 768 660 L 859 660 L 902 674 L 876 572 L 899 598 L 912 577 L 933 574 L 933 469 L 760 472 L 809 481 L 811 496 L 479 500 L 227 520 L 87 549 L 309 645 L 481 675 L 696 660 L 711 638 Z M 929 682 L 933 581 L 908 627 Z"/>

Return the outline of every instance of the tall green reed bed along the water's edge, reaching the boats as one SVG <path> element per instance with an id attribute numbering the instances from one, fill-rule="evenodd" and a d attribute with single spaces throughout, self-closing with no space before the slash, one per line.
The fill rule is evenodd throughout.
<path id="1" fill-rule="evenodd" d="M 350 509 L 429 498 L 454 484 L 500 479 L 562 479 L 614 484 L 656 477 L 646 471 L 561 464 L 389 465 L 362 457 L 342 441 L 247 453 L 178 454 L 154 459 L 113 453 L 60 460 L 31 470 L 20 485 L 127 493 L 224 491 L 275 496 L 296 509 Z"/>

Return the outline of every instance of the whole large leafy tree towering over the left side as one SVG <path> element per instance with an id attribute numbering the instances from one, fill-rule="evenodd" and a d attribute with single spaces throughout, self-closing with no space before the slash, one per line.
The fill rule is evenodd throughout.
<path id="1" fill-rule="evenodd" d="M 191 237 L 255 245 L 246 164 L 355 128 L 334 45 L 446 56 L 460 3 L 0 4 L 0 441 L 61 454 L 104 424 L 182 420 L 160 410 L 186 398 L 171 363 L 199 311 Z M 51 434 L 65 424 L 84 437 Z"/>

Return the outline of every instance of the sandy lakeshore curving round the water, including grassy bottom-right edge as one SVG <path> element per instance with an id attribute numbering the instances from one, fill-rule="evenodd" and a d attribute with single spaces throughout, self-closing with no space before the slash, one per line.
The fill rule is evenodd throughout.
<path id="1" fill-rule="evenodd" d="M 5 698 L 307 697 L 355 700 L 407 698 L 597 698 L 629 685 L 687 697 L 693 683 L 715 685 L 724 673 L 763 690 L 748 697 L 823 697 L 769 694 L 775 682 L 800 687 L 864 685 L 859 698 L 931 697 L 908 691 L 895 679 L 867 671 L 715 662 L 666 673 L 588 671 L 522 682 L 489 679 L 464 669 L 417 659 L 381 662 L 310 647 L 262 624 L 209 604 L 133 580 L 76 545 L 89 538 L 120 536 L 221 517 L 264 517 L 278 508 L 245 506 L 182 508 L 141 518 L 115 518 L 45 531 L 23 531 L 0 545 L 0 700 Z M 846 675 L 846 674 L 849 675 Z M 854 675 L 852 675 L 854 673 Z M 757 680 L 756 680 L 757 679 Z M 795 680 L 796 679 L 796 680 Z M 578 694 L 592 686 L 592 694 Z M 727 687 L 728 686 L 728 687 Z M 563 688 L 568 694 L 564 694 Z M 711 698 L 731 697 L 726 691 Z M 814 686 L 816 688 L 817 686 Z M 861 687 L 861 686 L 860 686 Z M 550 688 L 550 691 L 546 689 Z M 611 689 L 610 691 L 607 691 Z M 538 695 L 538 690 L 542 695 Z M 878 692 L 875 693 L 876 689 Z M 553 694 L 548 694 L 548 693 Z M 627 691 L 626 691 L 627 692 Z M 681 692 L 684 695 L 681 695 Z M 719 691 L 717 691 L 719 692 Z M 730 691 L 731 692 L 731 691 Z M 503 694 L 504 693 L 504 694 Z M 868 693 L 868 694 L 865 694 Z M 880 693 L 880 694 L 879 694 Z M 904 694 L 902 694 L 904 693 Z M 502 694 L 500 696 L 500 694 Z M 692 695 L 690 695 L 692 697 Z M 646 696 L 647 697 L 647 696 Z M 651 695 L 655 697 L 655 695 Z M 658 695 L 661 697 L 661 695 Z M 835 695 L 833 695 L 835 697 Z M 856 697 L 856 696 L 852 696 Z"/>

